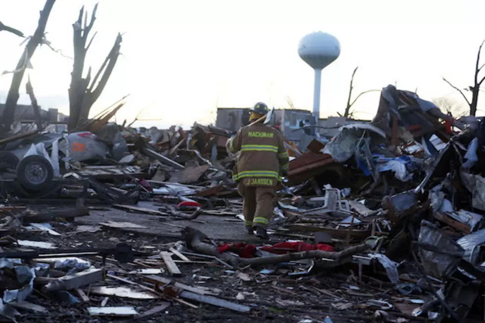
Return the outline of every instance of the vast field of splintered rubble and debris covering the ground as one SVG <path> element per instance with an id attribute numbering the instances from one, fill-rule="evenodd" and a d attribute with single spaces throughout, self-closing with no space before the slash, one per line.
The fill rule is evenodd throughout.
<path id="1" fill-rule="evenodd" d="M 484 320 L 485 126 L 430 104 L 388 86 L 371 124 L 307 151 L 289 143 L 266 244 L 243 232 L 229 131 L 99 117 L 68 135 L 3 138 L 0 313 Z"/>

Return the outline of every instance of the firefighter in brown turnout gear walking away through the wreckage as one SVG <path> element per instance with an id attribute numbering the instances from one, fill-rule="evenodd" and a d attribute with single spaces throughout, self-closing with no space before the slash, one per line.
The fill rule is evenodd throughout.
<path id="1" fill-rule="evenodd" d="M 277 129 L 262 122 L 251 125 L 268 113 L 268 106 L 258 102 L 250 111 L 249 125 L 227 141 L 227 149 L 238 156 L 233 179 L 243 198 L 242 214 L 248 234 L 268 239 L 269 221 L 273 215 L 276 186 L 288 173 L 288 152 Z"/>

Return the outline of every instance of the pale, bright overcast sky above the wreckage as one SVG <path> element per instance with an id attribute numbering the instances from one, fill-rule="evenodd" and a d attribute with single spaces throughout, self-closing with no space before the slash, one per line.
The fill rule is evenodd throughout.
<path id="1" fill-rule="evenodd" d="M 44 2 L 1 0 L 0 21 L 33 35 Z M 44 109 L 69 112 L 72 24 L 83 5 L 91 12 L 97 2 L 97 36 L 87 65 L 96 71 L 117 33 L 124 35 L 122 56 L 91 115 L 130 94 L 117 122 L 131 122 L 142 110 L 139 119 L 156 119 L 135 126 L 209 124 L 217 107 L 263 101 L 288 108 L 287 98 L 295 108 L 311 110 L 313 70 L 297 48 L 315 31 L 340 43 L 339 58 L 322 73 L 320 117 L 343 112 L 356 66 L 354 96 L 396 84 L 400 90 L 417 89 L 424 99 L 446 97 L 465 108 L 442 77 L 458 88 L 472 85 L 485 39 L 483 0 L 57 0 L 46 38 L 62 54 L 42 46 L 28 70 Z M 0 32 L 0 71 L 15 68 L 21 42 Z M 10 81 L 11 74 L 0 76 L 0 102 Z M 19 103 L 29 104 L 25 86 L 20 90 Z M 354 105 L 355 116 L 372 119 L 378 102 L 379 92 L 364 94 Z M 485 111 L 485 97 L 479 109 Z"/>

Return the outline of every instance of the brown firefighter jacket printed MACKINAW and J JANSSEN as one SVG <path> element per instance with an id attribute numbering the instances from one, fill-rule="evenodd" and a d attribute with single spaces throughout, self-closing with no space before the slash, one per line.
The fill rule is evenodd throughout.
<path id="1" fill-rule="evenodd" d="M 246 186 L 276 186 L 289 159 L 280 132 L 262 123 L 241 128 L 226 144 L 233 154 L 239 152 L 233 179 Z"/>

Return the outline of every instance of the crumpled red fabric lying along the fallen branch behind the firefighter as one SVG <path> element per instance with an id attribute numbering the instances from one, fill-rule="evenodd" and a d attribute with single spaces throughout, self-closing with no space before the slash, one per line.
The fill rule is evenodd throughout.
<path id="1" fill-rule="evenodd" d="M 288 252 L 300 252 L 300 251 L 310 251 L 310 250 L 322 250 L 322 251 L 334 251 L 334 247 L 319 243 L 317 248 L 315 245 L 305 243 L 303 241 L 297 242 L 280 242 L 273 246 L 263 246 L 261 250 L 268 251 L 275 254 L 285 254 Z M 242 258 L 253 258 L 256 253 L 256 246 L 254 244 L 245 244 L 244 242 L 239 243 L 226 243 L 219 246 L 219 253 L 226 251 L 237 253 Z"/>

